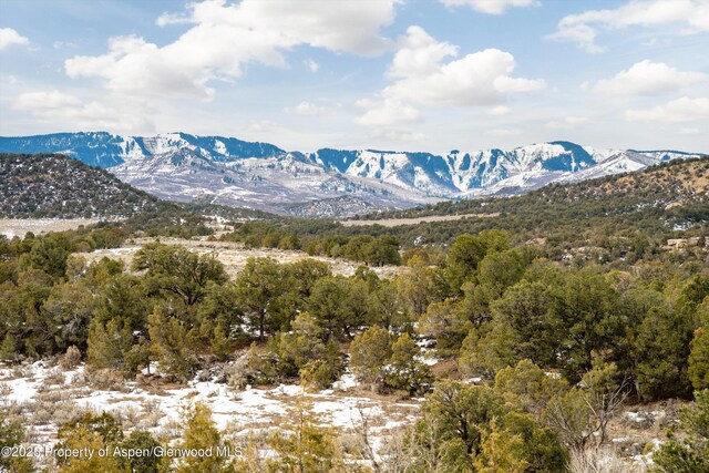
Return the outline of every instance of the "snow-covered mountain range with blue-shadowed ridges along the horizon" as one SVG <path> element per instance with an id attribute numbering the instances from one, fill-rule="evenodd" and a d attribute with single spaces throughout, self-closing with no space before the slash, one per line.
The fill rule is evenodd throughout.
<path id="1" fill-rule="evenodd" d="M 595 150 L 557 141 L 510 151 L 321 148 L 166 133 L 105 132 L 0 137 L 0 153 L 61 153 L 106 168 L 158 197 L 309 217 L 348 216 L 444 199 L 516 195 L 552 183 L 634 172 L 702 153 Z"/>

